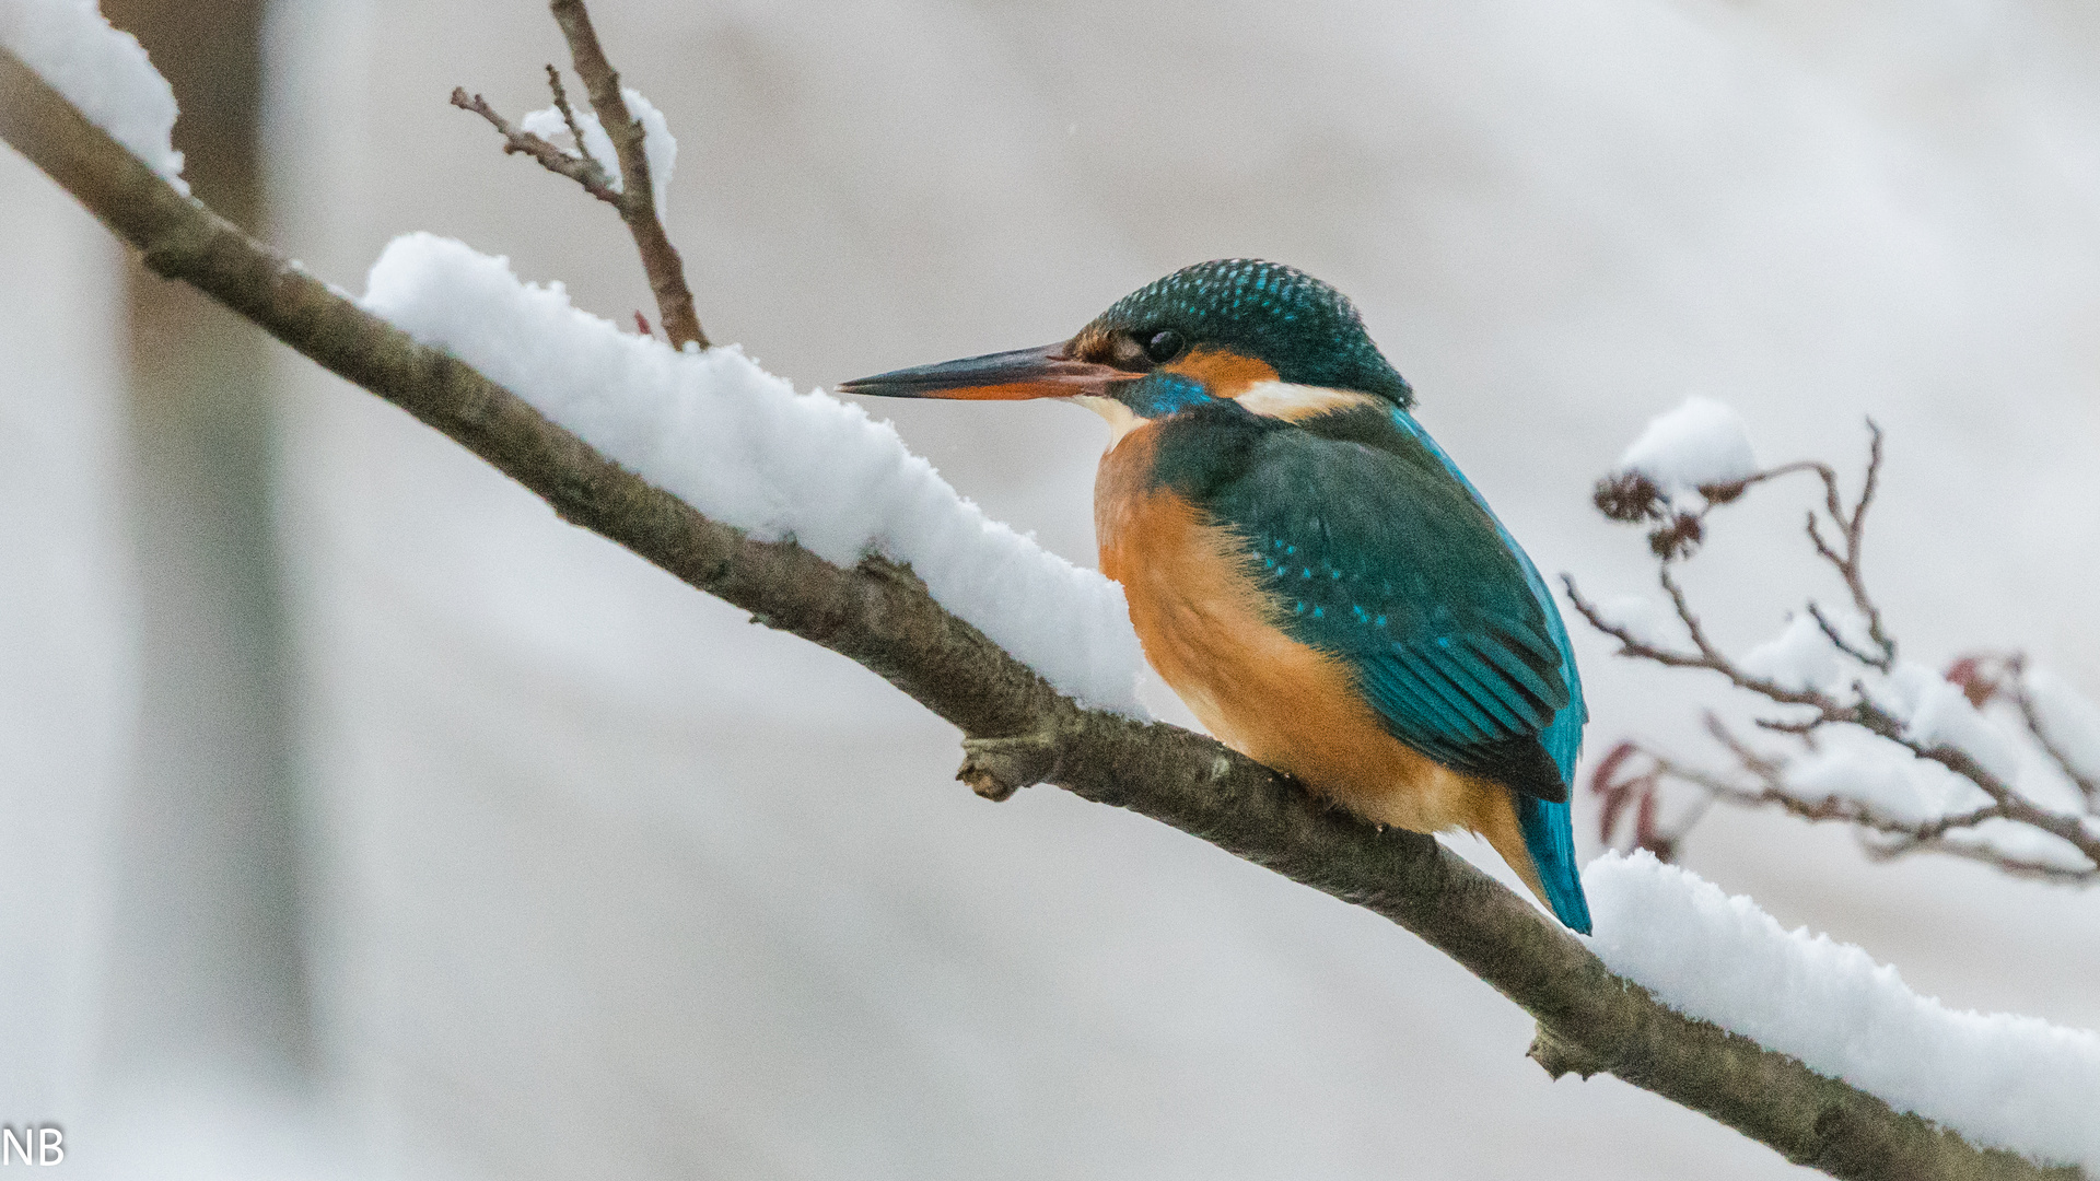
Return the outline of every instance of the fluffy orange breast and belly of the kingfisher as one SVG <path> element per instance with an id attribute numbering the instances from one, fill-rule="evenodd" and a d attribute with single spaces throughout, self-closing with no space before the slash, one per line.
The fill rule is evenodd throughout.
<path id="1" fill-rule="evenodd" d="M 1159 677 L 1233 750 L 1371 824 L 1478 832 L 1541 893 L 1510 790 L 1392 738 L 1348 666 L 1285 635 L 1239 538 L 1147 488 L 1149 435 L 1132 431 L 1102 458 L 1094 527 L 1100 569 L 1124 584 Z"/>

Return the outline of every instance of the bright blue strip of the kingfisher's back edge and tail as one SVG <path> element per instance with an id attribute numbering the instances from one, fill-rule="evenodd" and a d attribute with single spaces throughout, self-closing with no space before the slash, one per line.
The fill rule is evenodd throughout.
<path id="1" fill-rule="evenodd" d="M 1581 727 L 1590 721 L 1590 708 L 1581 700 L 1581 672 L 1575 670 L 1575 647 L 1569 643 L 1569 628 L 1560 622 L 1560 607 L 1554 605 L 1552 590 L 1546 588 L 1546 580 L 1539 578 L 1539 567 L 1531 563 L 1531 555 L 1525 546 L 1516 544 L 1510 530 L 1502 527 L 1502 519 L 1495 511 L 1487 506 L 1487 498 L 1480 490 L 1466 479 L 1466 473 L 1451 462 L 1451 456 L 1436 446 L 1436 439 L 1415 422 L 1413 414 L 1405 410 L 1394 410 L 1392 420 L 1401 424 L 1403 431 L 1422 439 L 1438 460 L 1443 460 L 1445 471 L 1457 477 L 1472 494 L 1472 500 L 1495 521 L 1495 530 L 1502 534 L 1502 544 L 1510 546 L 1516 555 L 1518 565 L 1525 567 L 1525 582 L 1531 586 L 1531 597 L 1539 601 L 1539 609 L 1546 612 L 1546 628 L 1554 637 L 1554 647 L 1560 649 L 1560 681 L 1569 687 L 1569 704 L 1560 706 L 1554 714 L 1552 725 L 1539 735 L 1546 752 L 1554 757 L 1554 765 L 1560 767 L 1560 782 L 1569 786 L 1569 794 L 1575 790 L 1575 757 L 1581 754 Z M 1581 893 L 1581 872 L 1575 866 L 1575 822 L 1569 805 L 1546 803 L 1527 794 L 1516 794 L 1516 826 L 1525 834 L 1525 851 L 1531 853 L 1531 864 L 1539 872 L 1539 883 L 1546 887 L 1546 902 L 1552 904 L 1554 916 L 1560 918 L 1571 931 L 1583 935 L 1590 933 L 1590 902 Z"/>

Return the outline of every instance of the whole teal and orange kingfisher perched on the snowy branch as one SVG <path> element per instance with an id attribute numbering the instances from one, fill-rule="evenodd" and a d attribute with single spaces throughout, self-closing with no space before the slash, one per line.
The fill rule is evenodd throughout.
<path id="1" fill-rule="evenodd" d="M 1203 727 L 1376 826 L 1476 832 L 1590 931 L 1567 626 L 1342 292 L 1220 258 L 1069 340 L 838 389 L 1060 397 L 1107 418 L 1100 572 Z"/>

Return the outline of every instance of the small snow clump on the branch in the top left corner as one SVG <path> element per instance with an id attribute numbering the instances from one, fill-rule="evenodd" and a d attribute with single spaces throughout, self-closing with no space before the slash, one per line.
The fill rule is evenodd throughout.
<path id="1" fill-rule="evenodd" d="M 0 0 L 0 44 L 88 122 L 189 193 L 183 153 L 170 141 L 174 88 L 147 61 L 139 38 L 111 27 L 94 0 Z"/>

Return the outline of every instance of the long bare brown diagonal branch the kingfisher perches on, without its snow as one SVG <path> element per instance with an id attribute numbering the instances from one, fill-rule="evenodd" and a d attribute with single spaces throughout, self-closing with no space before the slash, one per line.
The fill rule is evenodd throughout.
<path id="1" fill-rule="evenodd" d="M 556 0 L 556 13 L 563 6 Z M 176 195 L 6 50 L 0 139 L 136 246 L 153 271 L 204 290 L 443 431 L 565 521 L 876 670 L 972 740 L 964 778 L 985 794 L 1046 778 L 1384 914 L 1531 1013 L 1539 1023 L 1531 1053 L 1556 1076 L 1611 1072 L 1833 1177 L 2081 1177 L 2071 1166 L 2043 1168 L 2010 1152 L 1978 1149 L 1798 1059 L 1663 1007 L 1428 836 L 1378 832 L 1325 809 L 1199 733 L 1079 708 L 949 616 L 905 567 L 869 557 L 842 569 L 792 542 L 760 542 L 701 517 L 470 366 L 414 343 Z M 628 177 L 628 191 L 647 191 L 636 172 Z"/>

